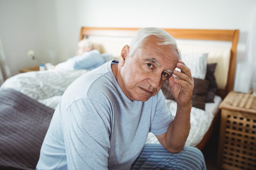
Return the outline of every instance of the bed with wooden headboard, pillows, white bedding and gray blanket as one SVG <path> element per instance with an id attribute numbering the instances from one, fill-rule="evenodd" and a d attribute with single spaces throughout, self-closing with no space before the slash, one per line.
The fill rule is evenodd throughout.
<path id="1" fill-rule="evenodd" d="M 79 40 L 90 39 L 95 49 L 118 60 L 122 47 L 137 30 L 82 27 Z M 218 105 L 233 90 L 239 30 L 165 30 L 177 40 L 182 60 L 192 64 L 195 73 L 198 88 L 193 92 L 195 107 L 191 110 L 191 130 L 186 145 L 202 150 L 218 122 Z M 198 64 L 202 68 L 198 69 Z M 87 71 L 35 71 L 15 75 L 4 82 L 0 87 L 0 168 L 35 169 L 40 146 L 61 95 L 74 79 Z M 214 85 L 211 103 L 206 102 L 210 84 Z M 175 114 L 176 102 L 168 90 L 163 87 L 162 91 L 166 105 Z M 151 133 L 146 142 L 158 143 Z"/>

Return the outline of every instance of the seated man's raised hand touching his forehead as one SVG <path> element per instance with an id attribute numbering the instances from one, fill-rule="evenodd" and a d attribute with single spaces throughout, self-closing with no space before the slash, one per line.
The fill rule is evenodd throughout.
<path id="1" fill-rule="evenodd" d="M 177 68 L 180 68 L 181 72 L 177 70 L 173 71 L 173 74 L 179 78 L 175 78 L 172 75 L 168 79 L 169 87 L 178 106 L 186 108 L 191 106 L 194 80 L 192 78 L 190 69 L 186 66 L 184 62 L 178 60 L 176 66 Z"/>

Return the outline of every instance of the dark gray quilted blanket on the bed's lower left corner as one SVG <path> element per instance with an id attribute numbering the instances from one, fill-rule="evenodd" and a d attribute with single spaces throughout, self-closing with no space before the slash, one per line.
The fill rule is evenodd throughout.
<path id="1" fill-rule="evenodd" d="M 18 91 L 0 91 L 0 169 L 36 168 L 53 113 Z"/>

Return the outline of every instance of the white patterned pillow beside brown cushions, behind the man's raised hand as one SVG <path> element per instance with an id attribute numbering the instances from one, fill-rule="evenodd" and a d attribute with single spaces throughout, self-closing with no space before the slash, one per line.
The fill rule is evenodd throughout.
<path id="1" fill-rule="evenodd" d="M 186 54 L 181 56 L 181 60 L 189 67 L 193 78 L 205 79 L 207 71 L 207 53 Z M 180 71 L 180 69 L 176 68 Z"/>

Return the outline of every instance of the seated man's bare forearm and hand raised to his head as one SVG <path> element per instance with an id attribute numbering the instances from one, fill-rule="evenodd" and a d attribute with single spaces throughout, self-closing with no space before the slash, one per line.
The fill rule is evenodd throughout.
<path id="1" fill-rule="evenodd" d="M 171 121 L 167 132 L 156 135 L 162 146 L 169 152 L 180 152 L 184 148 L 190 130 L 191 98 L 194 88 L 189 68 L 181 60 L 176 66 L 181 72 L 174 70 L 173 74 L 179 79 L 173 76 L 168 79 L 172 95 L 177 102 L 176 116 Z"/>

